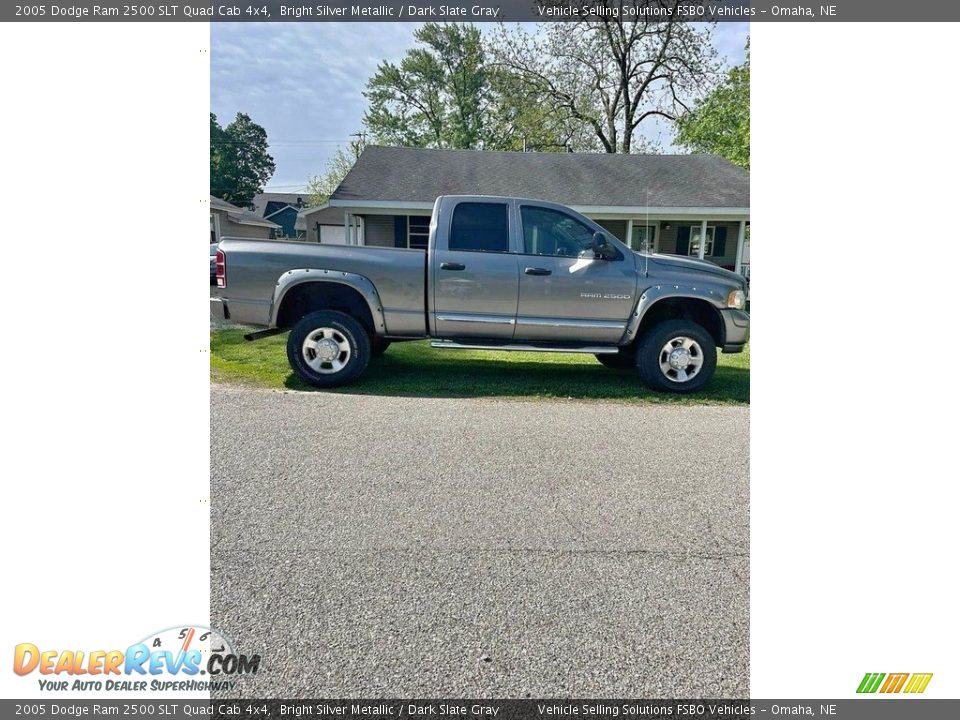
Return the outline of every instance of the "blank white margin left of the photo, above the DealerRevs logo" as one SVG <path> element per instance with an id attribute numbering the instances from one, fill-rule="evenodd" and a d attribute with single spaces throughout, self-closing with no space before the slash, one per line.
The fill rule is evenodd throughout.
<path id="1" fill-rule="evenodd" d="M 209 624 L 209 36 L 0 25 L 7 697 Z"/>

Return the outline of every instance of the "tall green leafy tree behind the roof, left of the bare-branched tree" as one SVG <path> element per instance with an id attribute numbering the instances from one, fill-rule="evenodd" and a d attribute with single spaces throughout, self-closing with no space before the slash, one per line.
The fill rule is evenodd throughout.
<path id="1" fill-rule="evenodd" d="M 376 142 L 472 148 L 481 140 L 486 71 L 480 31 L 426 23 L 399 65 L 382 62 L 367 82 L 364 125 Z"/>

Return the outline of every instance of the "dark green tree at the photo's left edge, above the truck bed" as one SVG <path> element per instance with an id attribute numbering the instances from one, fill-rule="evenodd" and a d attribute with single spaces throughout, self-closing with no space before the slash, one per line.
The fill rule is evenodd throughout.
<path id="1" fill-rule="evenodd" d="M 237 113 L 225 128 L 210 113 L 210 194 L 250 206 L 276 169 L 267 150 L 267 131 L 246 113 Z"/>

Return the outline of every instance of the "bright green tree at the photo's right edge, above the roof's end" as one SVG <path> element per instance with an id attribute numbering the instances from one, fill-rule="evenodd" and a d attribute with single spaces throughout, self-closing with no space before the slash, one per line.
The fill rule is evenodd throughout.
<path id="1" fill-rule="evenodd" d="M 678 145 L 750 169 L 750 44 L 747 59 L 703 102 L 677 120 Z"/>

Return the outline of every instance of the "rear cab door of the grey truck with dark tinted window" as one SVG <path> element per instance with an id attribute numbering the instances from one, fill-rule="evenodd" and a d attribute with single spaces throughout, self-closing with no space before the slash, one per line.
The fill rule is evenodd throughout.
<path id="1" fill-rule="evenodd" d="M 506 202 L 464 201 L 438 220 L 449 222 L 450 231 L 446 247 L 433 250 L 437 337 L 513 337 L 517 254 L 510 252 L 509 209 Z"/>

